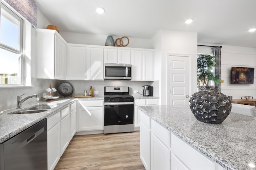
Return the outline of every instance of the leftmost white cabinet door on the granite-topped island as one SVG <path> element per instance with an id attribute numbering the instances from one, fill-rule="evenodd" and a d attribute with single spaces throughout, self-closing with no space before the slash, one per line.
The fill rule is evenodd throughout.
<path id="1" fill-rule="evenodd" d="M 151 148 L 151 131 L 143 123 L 140 123 L 140 159 L 146 170 L 151 170 L 151 149 L 150 148 Z"/>

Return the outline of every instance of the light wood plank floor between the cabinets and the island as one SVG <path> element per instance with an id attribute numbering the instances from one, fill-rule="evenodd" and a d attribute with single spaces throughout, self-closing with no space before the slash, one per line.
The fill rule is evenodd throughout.
<path id="1" fill-rule="evenodd" d="M 54 170 L 145 170 L 140 131 L 74 136 Z"/>

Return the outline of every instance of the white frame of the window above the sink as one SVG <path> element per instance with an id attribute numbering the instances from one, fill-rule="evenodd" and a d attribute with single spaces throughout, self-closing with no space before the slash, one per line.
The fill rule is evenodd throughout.
<path id="1" fill-rule="evenodd" d="M 19 37 L 18 37 L 18 49 L 15 49 L 13 47 L 10 47 L 8 45 L 5 45 L 3 43 L 0 43 L 0 48 L 1 49 L 4 49 L 4 50 L 7 50 L 9 52 L 12 52 L 12 53 L 16 53 L 17 55 L 20 55 L 20 68 L 19 68 L 19 76 L 20 76 L 20 84 L 0 84 L 0 87 L 9 87 L 9 86 L 24 86 L 24 56 L 25 56 L 25 49 L 24 49 L 24 44 L 25 44 L 25 20 L 24 18 L 18 13 L 16 12 L 16 10 L 14 10 L 11 6 L 9 6 L 8 4 L 4 3 L 4 2 L 1 2 L 0 3 L 0 14 L 1 14 L 1 11 L 2 9 L 4 9 L 8 14 L 10 14 L 12 17 L 14 17 L 16 20 L 18 20 L 19 22 Z M 11 20 L 10 20 L 11 21 Z M 0 22 L 1 23 L 1 22 Z"/>

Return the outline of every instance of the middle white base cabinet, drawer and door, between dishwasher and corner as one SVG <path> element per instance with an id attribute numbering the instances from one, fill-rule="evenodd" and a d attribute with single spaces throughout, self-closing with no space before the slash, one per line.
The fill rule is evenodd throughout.
<path id="1" fill-rule="evenodd" d="M 60 156 L 70 142 L 70 108 L 65 107 L 60 111 Z"/>

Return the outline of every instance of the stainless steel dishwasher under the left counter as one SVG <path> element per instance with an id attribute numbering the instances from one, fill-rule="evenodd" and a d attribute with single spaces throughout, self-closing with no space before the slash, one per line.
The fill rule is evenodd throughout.
<path id="1" fill-rule="evenodd" d="M 47 170 L 47 119 L 0 144 L 0 170 Z"/>

